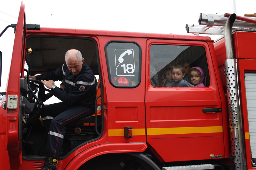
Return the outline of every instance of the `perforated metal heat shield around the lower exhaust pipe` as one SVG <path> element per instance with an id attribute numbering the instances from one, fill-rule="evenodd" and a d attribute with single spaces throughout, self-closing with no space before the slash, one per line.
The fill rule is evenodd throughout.
<path id="1" fill-rule="evenodd" d="M 245 150 L 244 134 L 242 129 L 242 115 L 240 109 L 239 86 L 237 76 L 236 59 L 225 60 L 227 76 L 228 95 L 228 116 L 230 126 L 230 144 L 233 168 L 235 170 L 245 170 Z"/>

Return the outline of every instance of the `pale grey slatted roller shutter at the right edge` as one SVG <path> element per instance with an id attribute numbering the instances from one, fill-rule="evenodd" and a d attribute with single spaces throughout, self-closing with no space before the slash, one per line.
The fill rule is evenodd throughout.
<path id="1" fill-rule="evenodd" d="M 256 158 L 256 73 L 245 73 L 245 91 L 252 158 Z"/>

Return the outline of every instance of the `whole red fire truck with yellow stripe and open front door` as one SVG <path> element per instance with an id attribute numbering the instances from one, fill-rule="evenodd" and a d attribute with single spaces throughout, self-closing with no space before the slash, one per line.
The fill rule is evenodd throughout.
<path id="1" fill-rule="evenodd" d="M 51 90 L 24 75 L 59 68 L 69 49 L 82 53 L 100 81 L 100 112 L 67 127 L 58 170 L 256 168 L 255 24 L 235 14 L 201 14 L 199 20 L 205 26 L 187 25 L 188 32 L 225 36 L 214 42 L 196 35 L 42 28 L 26 24 L 21 4 L 17 24 L 10 25 L 15 40 L 1 92 L 0 169 L 44 165 L 40 113 Z M 233 30 L 232 24 L 252 29 Z M 204 87 L 162 87 L 165 72 L 177 64 L 200 67 Z"/>

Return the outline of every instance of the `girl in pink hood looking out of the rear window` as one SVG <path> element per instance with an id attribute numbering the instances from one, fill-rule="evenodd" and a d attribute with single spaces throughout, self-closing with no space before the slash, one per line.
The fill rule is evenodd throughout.
<path id="1" fill-rule="evenodd" d="M 204 71 L 200 67 L 192 67 L 188 74 L 188 83 L 196 87 L 204 86 Z"/>

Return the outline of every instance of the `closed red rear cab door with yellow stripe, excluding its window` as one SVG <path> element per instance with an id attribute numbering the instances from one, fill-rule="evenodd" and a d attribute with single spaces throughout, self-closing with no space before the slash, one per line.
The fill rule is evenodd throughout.
<path id="1" fill-rule="evenodd" d="M 222 104 L 224 99 L 221 97 L 223 91 L 221 88 L 222 93 L 220 94 L 219 88 L 221 86 L 217 83 L 220 78 L 216 76 L 218 72 L 213 67 L 209 45 L 205 42 L 195 41 L 148 40 L 147 42 L 148 55 L 151 44 L 203 46 L 206 50 L 211 82 L 207 88 L 161 88 L 152 87 L 147 81 L 146 125 L 148 144 L 165 162 L 211 159 L 211 154 L 226 157 L 228 153 L 225 153 L 224 134 L 225 137 L 228 137 L 228 134 L 226 127 L 223 127 L 222 112 L 202 112 L 203 108 L 225 107 Z M 149 68 L 147 70 L 148 77 Z M 204 128 L 213 130 L 211 133 L 210 131 L 200 133 L 200 129 Z M 195 132 L 193 132 L 194 129 L 196 129 Z M 194 153 L 198 154 L 191 157 L 191 154 Z"/>

